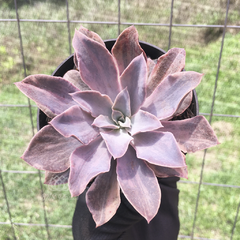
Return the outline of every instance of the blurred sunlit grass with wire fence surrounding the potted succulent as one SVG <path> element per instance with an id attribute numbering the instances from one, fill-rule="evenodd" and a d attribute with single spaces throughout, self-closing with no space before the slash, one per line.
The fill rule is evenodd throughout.
<path id="1" fill-rule="evenodd" d="M 179 239 L 240 239 L 240 0 L 0 0 L 0 239 L 72 239 L 76 202 L 20 159 L 37 108 L 13 83 L 51 75 L 81 25 L 111 39 L 133 24 L 142 41 L 185 48 L 185 69 L 204 73 L 200 114 L 221 142 L 187 155 Z"/>

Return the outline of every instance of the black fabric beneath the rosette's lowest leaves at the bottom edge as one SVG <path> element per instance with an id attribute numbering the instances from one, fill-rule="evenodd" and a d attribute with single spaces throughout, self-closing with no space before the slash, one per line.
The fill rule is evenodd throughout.
<path id="1" fill-rule="evenodd" d="M 114 217 L 96 228 L 85 195 L 78 197 L 73 216 L 74 240 L 177 240 L 179 232 L 177 177 L 158 179 L 162 200 L 155 218 L 147 221 L 121 194 L 121 205 Z"/>

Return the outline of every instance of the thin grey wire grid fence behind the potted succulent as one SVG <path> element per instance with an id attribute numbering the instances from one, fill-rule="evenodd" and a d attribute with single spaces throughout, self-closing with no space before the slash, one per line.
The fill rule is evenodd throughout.
<path id="1" fill-rule="evenodd" d="M 225 33 L 227 29 L 240 29 L 240 26 L 234 26 L 234 25 L 227 25 L 227 20 L 228 20 L 228 11 L 229 11 L 229 6 L 230 6 L 230 0 L 227 0 L 227 5 L 226 5 L 226 14 L 225 14 L 225 22 L 224 25 L 205 25 L 205 24 L 174 24 L 173 23 L 173 9 L 174 9 L 174 0 L 171 0 L 171 10 L 170 10 L 170 21 L 169 23 L 139 23 L 139 22 L 122 22 L 121 21 L 121 1 L 117 0 L 118 2 L 118 11 L 117 11 L 117 22 L 114 21 L 81 21 L 81 20 L 71 20 L 69 17 L 69 2 L 68 0 L 65 1 L 66 3 L 66 20 L 46 20 L 46 19 L 20 19 L 18 15 L 18 6 L 17 6 L 17 0 L 14 0 L 15 4 L 15 12 L 16 12 L 16 18 L 15 19 L 0 19 L 0 22 L 16 22 L 17 27 L 18 27 L 18 38 L 19 38 L 19 46 L 21 50 L 21 57 L 22 57 L 22 69 L 24 72 L 24 77 L 27 76 L 26 74 L 26 63 L 25 63 L 25 57 L 24 57 L 24 48 L 23 48 L 23 43 L 22 43 L 22 32 L 21 32 L 21 23 L 22 22 L 38 22 L 38 23 L 63 23 L 67 24 L 67 30 L 68 30 L 68 42 L 69 42 L 69 55 L 72 54 L 72 46 L 71 46 L 71 29 L 70 25 L 73 23 L 81 23 L 81 24 L 108 24 L 108 25 L 117 25 L 118 27 L 118 34 L 120 34 L 120 28 L 121 25 L 136 25 L 136 26 L 162 26 L 162 27 L 169 27 L 169 37 L 168 37 L 168 49 L 171 47 L 171 40 L 172 40 L 172 29 L 173 28 L 179 28 L 179 27 L 193 27 L 193 28 L 222 28 L 223 29 L 223 34 L 222 34 L 222 41 L 221 41 L 221 48 L 220 53 L 219 53 L 219 59 L 218 59 L 218 67 L 217 67 L 217 73 L 216 73 L 216 80 L 215 80 L 215 86 L 214 86 L 214 92 L 212 96 L 212 105 L 211 105 L 211 111 L 210 113 L 200 113 L 201 115 L 209 116 L 209 122 L 211 124 L 212 122 L 212 117 L 213 116 L 218 116 L 218 117 L 228 117 L 228 118 L 240 118 L 239 115 L 227 115 L 227 114 L 214 114 L 213 109 L 214 109 L 214 104 L 215 104 L 215 97 L 216 97 L 216 92 L 217 92 L 217 84 L 218 84 L 218 79 L 219 79 L 219 71 L 221 68 L 221 58 L 222 58 L 222 52 L 224 48 L 224 39 L 225 39 Z M 31 127 L 32 127 L 32 135 L 34 135 L 34 124 L 33 124 L 33 116 L 32 116 L 32 108 L 36 108 L 35 105 L 31 105 L 29 99 L 28 99 L 28 104 L 27 105 L 20 105 L 20 104 L 0 104 L 0 107 L 8 108 L 8 107 L 24 107 L 29 109 L 29 120 L 31 122 Z M 207 155 L 207 150 L 204 151 L 203 159 L 202 159 L 202 167 L 201 167 L 201 173 L 200 173 L 200 180 L 199 182 L 194 182 L 194 181 L 183 181 L 181 180 L 180 183 L 182 184 L 195 184 L 198 185 L 198 193 L 197 193 L 197 199 L 196 199 L 196 205 L 195 205 L 195 212 L 194 212 L 194 220 L 193 220 L 193 225 L 192 225 L 192 232 L 190 236 L 185 236 L 185 235 L 179 235 L 180 239 L 199 239 L 199 240 L 217 240 L 217 239 L 210 239 L 210 238 L 204 238 L 204 237 L 195 237 L 195 229 L 196 229 L 196 220 L 197 220 L 197 214 L 198 214 L 198 207 L 199 207 L 199 199 L 201 195 L 201 187 L 202 185 L 209 185 L 209 186 L 216 186 L 216 187 L 224 187 L 224 188 L 237 188 L 240 189 L 239 185 L 228 185 L 228 184 L 217 184 L 217 183 L 208 183 L 208 182 L 203 182 L 203 172 L 204 172 L 204 165 L 205 165 L 205 159 Z M 43 208 L 43 213 L 44 213 L 44 221 L 45 224 L 34 224 L 34 223 L 19 223 L 19 222 L 13 222 L 12 220 L 12 215 L 11 215 L 11 209 L 8 201 L 8 196 L 7 196 L 7 191 L 5 187 L 5 183 L 2 177 L 3 173 L 14 173 L 14 174 L 37 174 L 39 178 L 39 184 L 40 184 L 40 189 L 41 189 L 41 199 L 42 199 L 42 208 Z M 9 221 L 10 222 L 0 222 L 0 225 L 11 225 L 11 231 L 13 233 L 14 239 L 17 238 L 17 234 L 15 231 L 15 226 L 27 226 L 27 227 L 33 227 L 33 226 L 39 226 L 39 227 L 44 227 L 46 229 L 46 234 L 47 238 L 51 239 L 50 232 L 49 232 L 49 227 L 55 227 L 55 228 L 71 228 L 71 225 L 59 225 L 59 224 L 49 224 L 48 223 L 48 217 L 47 217 L 47 212 L 46 212 L 46 206 L 45 206 L 45 200 L 44 200 L 44 192 L 43 192 L 43 184 L 42 184 L 42 172 L 40 171 L 16 171 L 16 170 L 2 170 L 0 168 L 0 180 L 1 180 L 1 185 L 3 189 L 3 195 L 5 199 L 5 203 L 7 206 L 7 212 L 9 216 Z M 240 211 L 240 200 L 238 203 L 238 207 L 236 210 L 235 218 L 234 218 L 234 223 L 232 226 L 232 231 L 231 231 L 231 236 L 230 240 L 233 239 L 234 236 L 234 231 L 236 228 L 236 224 L 238 221 L 238 216 L 239 216 L 239 211 Z"/>

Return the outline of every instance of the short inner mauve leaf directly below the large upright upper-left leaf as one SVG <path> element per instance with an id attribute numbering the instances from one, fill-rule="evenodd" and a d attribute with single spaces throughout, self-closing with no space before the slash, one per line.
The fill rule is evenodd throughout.
<path id="1" fill-rule="evenodd" d="M 97 91 L 84 91 L 72 94 L 72 98 L 83 110 L 90 112 L 93 117 L 99 115 L 111 117 L 113 103 L 107 95 Z"/>

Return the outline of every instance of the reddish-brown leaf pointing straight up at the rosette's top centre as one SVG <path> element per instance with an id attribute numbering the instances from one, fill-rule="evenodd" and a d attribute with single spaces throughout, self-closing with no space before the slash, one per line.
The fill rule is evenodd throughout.
<path id="1" fill-rule="evenodd" d="M 126 28 L 117 38 L 113 48 L 112 54 L 115 57 L 120 75 L 128 64 L 141 53 L 146 54 L 139 45 L 138 32 L 134 26 Z"/>

